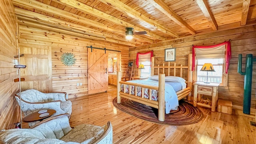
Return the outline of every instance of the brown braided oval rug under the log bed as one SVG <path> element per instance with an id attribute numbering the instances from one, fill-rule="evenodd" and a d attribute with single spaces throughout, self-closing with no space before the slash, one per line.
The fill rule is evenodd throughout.
<path id="1" fill-rule="evenodd" d="M 173 110 L 169 114 L 165 114 L 164 122 L 158 120 L 158 109 L 146 106 L 145 104 L 140 104 L 126 98 L 122 98 L 122 102 L 118 104 L 116 98 L 114 98 L 113 105 L 118 110 L 142 120 L 171 126 L 195 124 L 204 117 L 203 112 L 199 108 L 183 100 L 179 101 L 178 110 Z"/>

